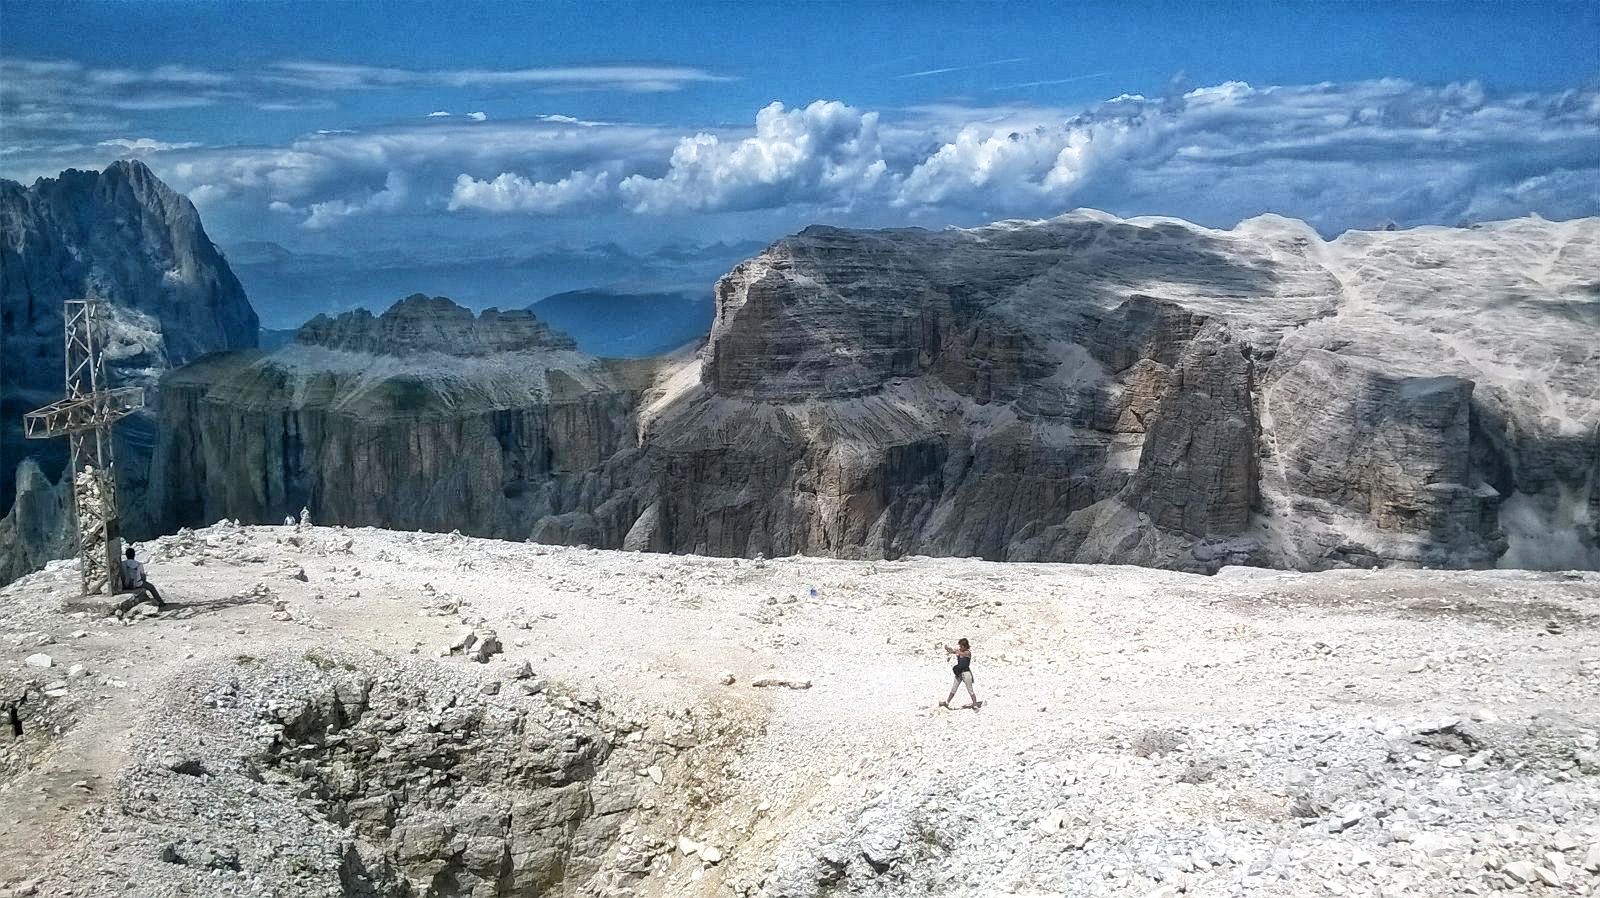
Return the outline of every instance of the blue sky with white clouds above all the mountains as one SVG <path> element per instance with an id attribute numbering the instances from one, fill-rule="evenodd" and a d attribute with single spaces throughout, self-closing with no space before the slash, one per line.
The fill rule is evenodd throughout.
<path id="1" fill-rule="evenodd" d="M 0 0 L 0 176 L 128 157 L 246 267 L 616 259 L 563 288 L 814 222 L 1565 219 L 1600 3 Z"/>

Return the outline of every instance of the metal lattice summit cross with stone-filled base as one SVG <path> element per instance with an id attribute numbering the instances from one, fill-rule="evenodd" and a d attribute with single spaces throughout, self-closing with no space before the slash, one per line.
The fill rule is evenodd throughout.
<path id="1" fill-rule="evenodd" d="M 104 307 L 99 299 L 67 299 L 67 397 L 22 416 L 30 440 L 66 435 L 72 445 L 72 515 L 78 531 L 83 594 L 122 586 L 122 525 L 110 426 L 144 407 L 144 387 L 110 387 L 101 359 Z"/>

